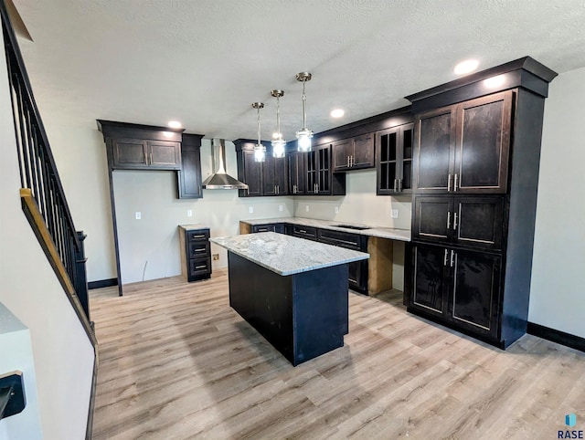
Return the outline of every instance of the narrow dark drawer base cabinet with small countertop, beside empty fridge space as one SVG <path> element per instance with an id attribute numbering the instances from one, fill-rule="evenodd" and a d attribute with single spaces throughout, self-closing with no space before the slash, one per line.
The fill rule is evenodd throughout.
<path id="1" fill-rule="evenodd" d="M 181 269 L 187 281 L 211 277 L 209 228 L 201 225 L 180 225 Z"/>

